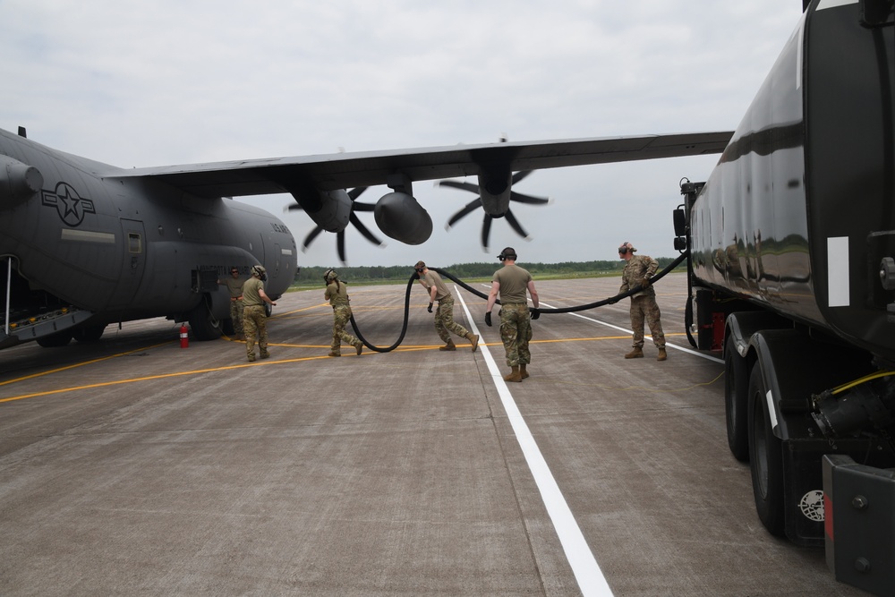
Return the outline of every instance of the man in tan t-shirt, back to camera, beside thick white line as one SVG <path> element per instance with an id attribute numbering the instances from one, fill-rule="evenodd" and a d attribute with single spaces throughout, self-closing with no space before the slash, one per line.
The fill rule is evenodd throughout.
<path id="1" fill-rule="evenodd" d="M 529 376 L 528 364 L 532 354 L 528 342 L 532 339 L 532 323 L 541 317 L 538 291 L 534 289 L 532 275 L 516 265 L 516 250 L 507 247 L 498 255 L 503 268 L 491 277 L 491 291 L 485 307 L 485 325 L 491 325 L 491 309 L 500 294 L 500 339 L 503 340 L 507 365 L 512 370 L 504 376 L 506 381 L 522 381 Z M 525 292 L 532 295 L 534 308 L 529 310 Z"/>

